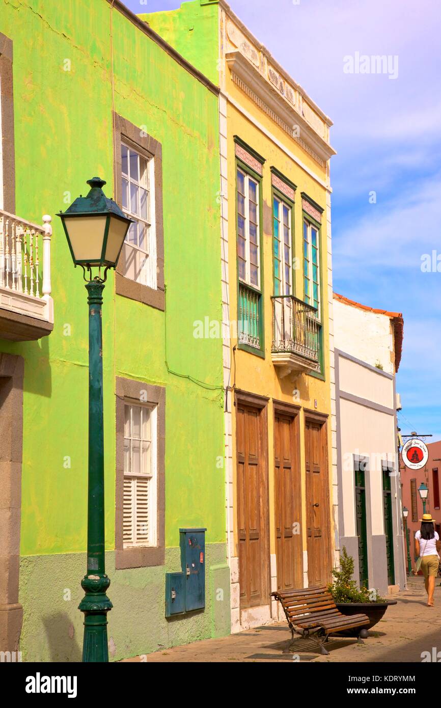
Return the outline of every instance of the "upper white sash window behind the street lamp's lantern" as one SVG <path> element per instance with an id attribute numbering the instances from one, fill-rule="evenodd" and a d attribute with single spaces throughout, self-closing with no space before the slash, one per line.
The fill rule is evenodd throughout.
<path id="1" fill-rule="evenodd" d="M 122 211 L 134 219 L 124 244 L 124 275 L 156 290 L 154 158 L 121 142 Z"/>

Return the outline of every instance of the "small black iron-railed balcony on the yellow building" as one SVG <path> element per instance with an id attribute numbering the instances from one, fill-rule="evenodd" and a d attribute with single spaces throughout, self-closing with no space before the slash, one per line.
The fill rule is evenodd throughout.
<path id="1" fill-rule="evenodd" d="M 271 358 L 280 377 L 292 371 L 320 371 L 317 310 L 294 295 L 273 295 Z"/>

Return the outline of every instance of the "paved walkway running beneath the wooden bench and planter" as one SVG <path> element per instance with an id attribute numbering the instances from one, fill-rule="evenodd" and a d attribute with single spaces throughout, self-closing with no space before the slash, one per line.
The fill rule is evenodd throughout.
<path id="1" fill-rule="evenodd" d="M 326 644 L 329 656 L 317 653 L 310 639 L 299 639 L 295 649 L 299 661 L 314 662 L 420 662 L 423 651 L 441 652 L 441 588 L 435 587 L 435 607 L 427 607 L 423 578 L 409 578 L 408 589 L 393 595 L 397 605 L 388 607 L 384 619 L 369 632 L 364 644 L 353 639 L 331 639 Z M 152 662 L 234 662 L 293 661 L 291 632 L 287 624 L 271 624 L 259 629 L 231 634 L 222 639 L 205 639 L 185 646 L 147 654 Z M 441 656 L 441 654 L 440 654 Z M 125 661 L 140 661 L 139 657 Z M 144 658 L 145 661 L 145 658 Z"/>

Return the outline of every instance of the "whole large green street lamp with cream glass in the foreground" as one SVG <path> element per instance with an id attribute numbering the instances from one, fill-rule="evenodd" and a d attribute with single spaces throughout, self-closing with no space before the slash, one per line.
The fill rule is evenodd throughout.
<path id="1" fill-rule="evenodd" d="M 75 267 L 81 265 L 88 302 L 88 509 L 87 572 L 81 581 L 84 598 L 84 662 L 106 662 L 107 613 L 112 609 L 106 591 L 104 555 L 104 433 L 103 433 L 103 331 L 101 305 L 109 268 L 116 268 L 122 244 L 132 223 L 117 204 L 103 193 L 105 181 L 88 180 L 90 191 L 79 196 L 62 219 Z M 92 277 L 92 268 L 98 275 Z M 103 274 L 101 269 L 104 269 Z M 86 277 L 87 274 L 87 277 Z"/>

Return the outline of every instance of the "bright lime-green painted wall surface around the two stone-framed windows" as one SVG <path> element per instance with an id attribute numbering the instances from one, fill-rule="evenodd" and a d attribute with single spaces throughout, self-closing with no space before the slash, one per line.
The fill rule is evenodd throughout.
<path id="1" fill-rule="evenodd" d="M 13 41 L 16 213 L 39 223 L 51 214 L 54 227 L 54 331 L 35 343 L 0 341 L 1 351 L 25 358 L 21 555 L 38 556 L 35 567 L 61 562 L 62 585 L 78 588 L 82 556 L 79 564 L 44 560 L 86 548 L 86 290 L 54 215 L 86 193 L 96 174 L 113 194 L 113 101 L 117 113 L 162 144 L 166 314 L 115 295 L 110 275 L 103 304 L 106 548 L 115 547 L 118 375 L 166 387 L 166 547 L 178 545 L 183 526 L 207 527 L 207 544 L 225 542 L 222 339 L 193 337 L 194 321 L 222 320 L 217 96 L 122 13 L 112 14 L 114 93 L 106 0 L 0 4 L 0 31 Z M 168 371 L 166 358 L 180 376 Z M 164 575 L 130 571 L 130 581 L 120 581 L 126 571 L 108 572 L 114 604 L 117 583 Z M 30 604 L 38 612 L 30 600 L 42 589 L 21 586 L 25 617 Z M 159 594 L 162 603 L 164 590 Z M 31 634 L 24 627 L 22 640 Z"/>

